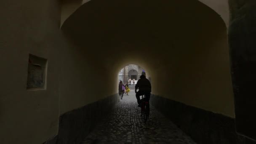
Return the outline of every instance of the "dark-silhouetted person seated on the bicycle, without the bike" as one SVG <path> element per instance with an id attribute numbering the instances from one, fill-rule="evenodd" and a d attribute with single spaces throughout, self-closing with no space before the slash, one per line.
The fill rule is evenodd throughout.
<path id="1" fill-rule="evenodd" d="M 138 88 L 139 88 L 139 91 L 137 92 Z M 146 101 L 149 102 L 150 93 L 151 93 L 151 84 L 145 75 L 140 76 L 140 79 L 135 85 L 135 93 L 136 93 L 137 102 L 139 104 L 138 107 L 141 107 L 140 96 L 142 96 L 143 94 L 145 94 Z"/>

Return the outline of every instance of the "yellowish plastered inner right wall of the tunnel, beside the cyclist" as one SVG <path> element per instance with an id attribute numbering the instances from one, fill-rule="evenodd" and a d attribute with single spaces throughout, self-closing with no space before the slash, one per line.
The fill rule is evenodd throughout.
<path id="1" fill-rule="evenodd" d="M 191 37 L 196 42 L 180 43 L 181 48 L 169 51 L 174 62 L 153 71 L 152 88 L 157 95 L 235 117 L 227 34 L 219 24 L 210 26 L 215 29 Z"/>

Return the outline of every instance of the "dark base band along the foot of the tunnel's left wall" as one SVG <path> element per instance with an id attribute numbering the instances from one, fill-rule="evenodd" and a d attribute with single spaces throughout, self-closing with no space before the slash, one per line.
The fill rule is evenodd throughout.
<path id="1" fill-rule="evenodd" d="M 44 144 L 80 144 L 117 103 L 117 94 L 66 112 L 59 118 L 59 133 Z"/>

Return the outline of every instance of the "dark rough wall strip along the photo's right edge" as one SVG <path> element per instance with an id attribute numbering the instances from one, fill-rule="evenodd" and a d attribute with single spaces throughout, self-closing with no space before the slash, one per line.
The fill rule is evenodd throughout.
<path id="1" fill-rule="evenodd" d="M 256 139 L 256 0 L 229 0 L 229 5 L 237 132 Z"/>

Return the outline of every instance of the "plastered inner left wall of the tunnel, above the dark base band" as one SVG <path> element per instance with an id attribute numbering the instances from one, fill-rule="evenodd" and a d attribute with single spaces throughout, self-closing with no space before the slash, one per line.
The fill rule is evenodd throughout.
<path id="1" fill-rule="evenodd" d="M 77 45 L 62 52 L 60 114 L 117 93 L 116 73 L 100 57 Z"/>

